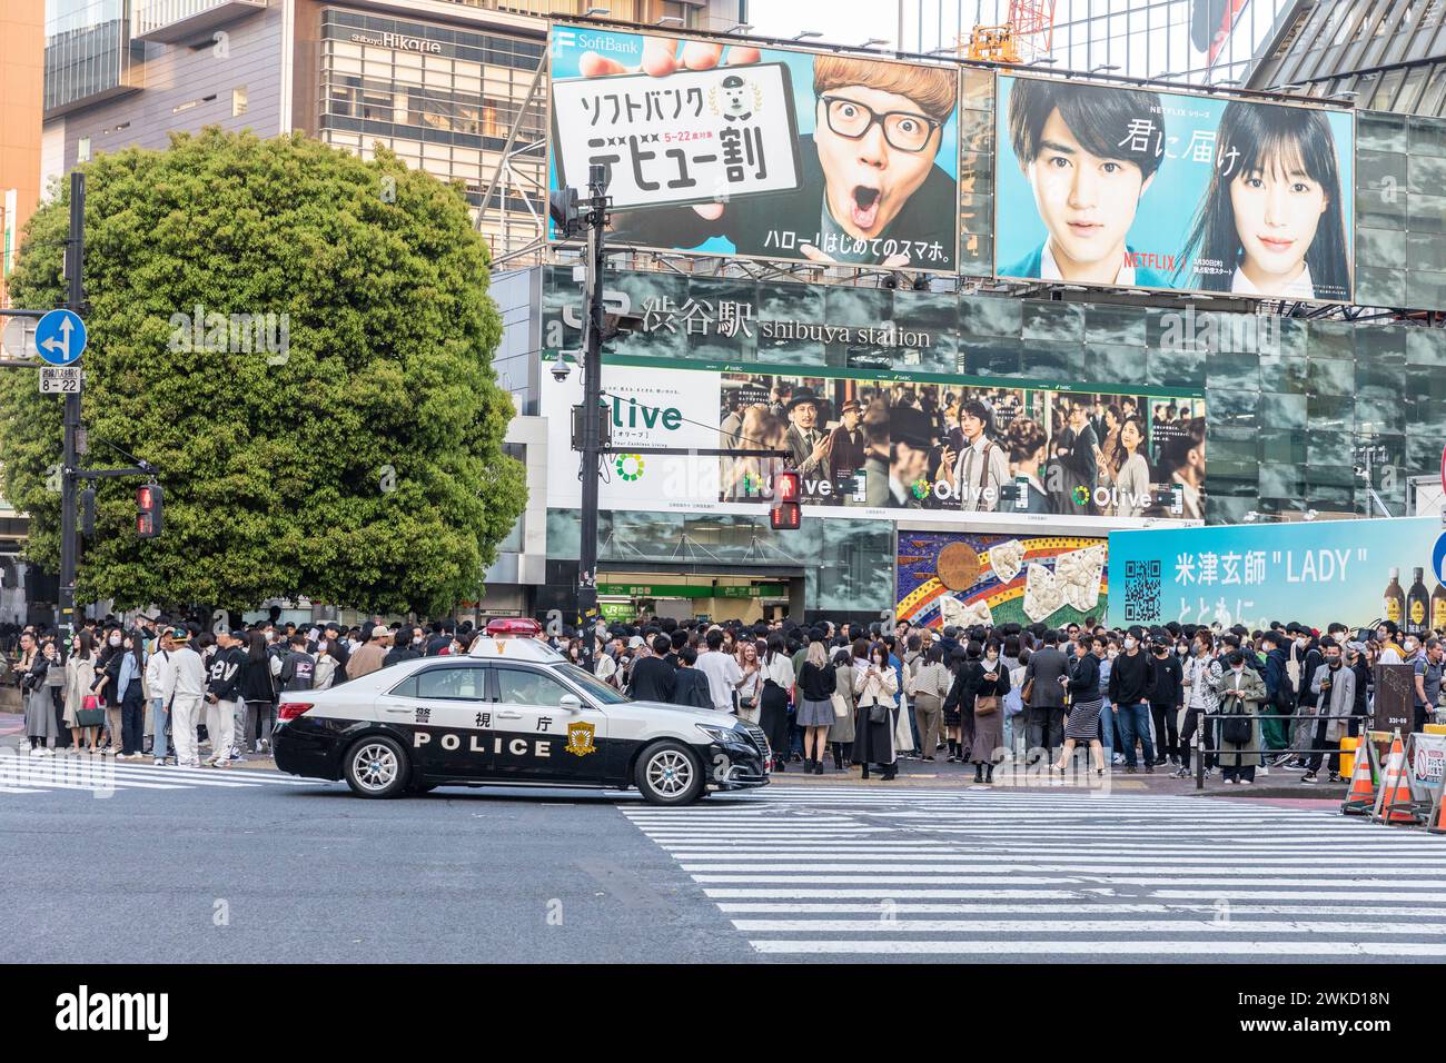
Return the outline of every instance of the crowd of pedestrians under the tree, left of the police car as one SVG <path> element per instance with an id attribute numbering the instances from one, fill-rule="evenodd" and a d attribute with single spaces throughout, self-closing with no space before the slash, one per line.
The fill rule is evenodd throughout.
<path id="1" fill-rule="evenodd" d="M 210 631 L 195 620 L 88 619 L 80 631 L 26 625 L 9 673 L 25 703 L 30 756 L 113 755 L 226 768 L 270 752 L 276 707 L 422 655 L 464 654 L 470 622 L 279 623 Z M 204 738 L 202 738 L 204 735 Z"/>

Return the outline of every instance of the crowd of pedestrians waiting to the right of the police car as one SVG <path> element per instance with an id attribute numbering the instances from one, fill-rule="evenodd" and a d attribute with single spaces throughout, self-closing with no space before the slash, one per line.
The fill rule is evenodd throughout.
<path id="1" fill-rule="evenodd" d="M 578 658 L 574 633 L 552 642 Z M 1440 639 L 1392 622 L 1118 631 L 1093 618 L 941 631 L 655 619 L 613 625 L 596 652 L 597 675 L 635 699 L 756 723 L 775 771 L 824 774 L 831 761 L 833 772 L 891 780 L 901 759 L 943 759 L 992 782 L 1002 764 L 1043 758 L 1064 772 L 1084 748 L 1098 775 L 1183 778 L 1199 748 L 1203 771 L 1235 785 L 1271 768 L 1306 784 L 1326 768 L 1339 781 L 1339 739 L 1365 726 L 1374 665 L 1413 665 L 1420 730 L 1434 719 L 1446 659 Z"/>

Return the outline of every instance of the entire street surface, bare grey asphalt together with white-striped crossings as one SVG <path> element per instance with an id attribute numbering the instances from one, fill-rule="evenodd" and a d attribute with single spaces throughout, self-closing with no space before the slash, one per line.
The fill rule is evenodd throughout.
<path id="1" fill-rule="evenodd" d="M 1329 801 L 778 781 L 364 801 L 273 771 L 0 774 L 0 962 L 1417 962 L 1446 837 Z M 1365 915 L 1362 914 L 1365 913 Z"/>

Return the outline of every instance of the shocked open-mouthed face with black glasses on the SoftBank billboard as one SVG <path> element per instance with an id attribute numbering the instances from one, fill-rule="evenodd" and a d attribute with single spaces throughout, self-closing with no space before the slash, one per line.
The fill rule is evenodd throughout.
<path id="1" fill-rule="evenodd" d="M 823 166 L 829 213 L 849 236 L 873 239 L 924 184 L 943 133 L 930 127 L 917 103 L 898 93 L 844 85 L 829 90 L 827 95 L 830 103 L 820 101 L 816 108 L 814 145 Z M 881 120 L 870 121 L 869 110 Z M 891 121 L 898 126 L 895 142 L 924 133 L 920 150 L 899 150 L 885 139 L 882 116 L 889 111 L 914 116 Z M 865 124 L 868 129 L 856 139 L 834 132 Z"/>

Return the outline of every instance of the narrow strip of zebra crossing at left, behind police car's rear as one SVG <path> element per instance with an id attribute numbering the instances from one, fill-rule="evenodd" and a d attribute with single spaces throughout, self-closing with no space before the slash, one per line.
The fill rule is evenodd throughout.
<path id="1" fill-rule="evenodd" d="M 257 790 L 315 785 L 312 780 L 246 768 L 156 768 L 146 761 L 117 762 L 110 756 L 0 755 L 0 794 L 36 795 L 88 791 L 108 795 L 120 790 Z"/>

